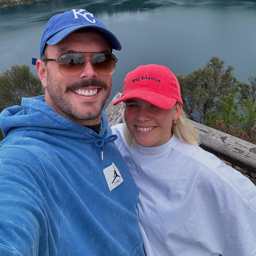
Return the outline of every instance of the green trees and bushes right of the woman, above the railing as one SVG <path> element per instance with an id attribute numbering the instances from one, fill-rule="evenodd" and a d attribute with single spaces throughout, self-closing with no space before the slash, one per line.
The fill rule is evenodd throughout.
<path id="1" fill-rule="evenodd" d="M 239 82 L 233 67 L 212 57 L 206 65 L 186 76 L 177 75 L 189 119 L 228 134 L 256 142 L 256 77 Z"/>

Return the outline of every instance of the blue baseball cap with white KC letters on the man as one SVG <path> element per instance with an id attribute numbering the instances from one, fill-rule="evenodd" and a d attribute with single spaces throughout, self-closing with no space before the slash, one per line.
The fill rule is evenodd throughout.
<path id="1" fill-rule="evenodd" d="M 57 45 L 65 37 L 81 28 L 93 28 L 102 34 L 108 41 L 110 48 L 121 50 L 122 46 L 117 37 L 106 26 L 84 9 L 72 9 L 54 15 L 46 24 L 40 44 L 40 56 L 42 58 L 45 46 Z"/>

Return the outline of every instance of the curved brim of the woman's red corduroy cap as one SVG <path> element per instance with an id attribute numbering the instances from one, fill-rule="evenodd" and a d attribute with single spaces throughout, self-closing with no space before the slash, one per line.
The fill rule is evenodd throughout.
<path id="1" fill-rule="evenodd" d="M 119 98 L 119 100 L 114 102 L 113 105 L 115 106 L 120 102 L 131 99 L 131 98 L 139 98 L 141 100 L 145 100 L 157 106 L 158 108 L 162 108 L 162 109 L 170 109 L 177 102 L 176 98 L 170 98 L 152 91 L 133 90 L 130 93 L 126 93 L 125 95 L 122 94 L 121 98 Z"/>

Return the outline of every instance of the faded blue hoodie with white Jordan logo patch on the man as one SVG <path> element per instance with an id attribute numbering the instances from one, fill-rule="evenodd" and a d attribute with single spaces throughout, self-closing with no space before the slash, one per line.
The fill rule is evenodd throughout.
<path id="1" fill-rule="evenodd" d="M 145 255 L 138 189 L 104 113 L 101 121 L 96 134 L 44 96 L 2 111 L 0 255 Z"/>

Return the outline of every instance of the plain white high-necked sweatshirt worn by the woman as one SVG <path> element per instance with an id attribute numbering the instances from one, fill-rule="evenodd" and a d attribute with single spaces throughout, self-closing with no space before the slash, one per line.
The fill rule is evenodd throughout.
<path id="1" fill-rule="evenodd" d="M 256 186 L 198 146 L 173 135 L 160 147 L 115 141 L 139 188 L 147 256 L 256 256 Z"/>

